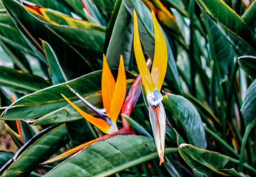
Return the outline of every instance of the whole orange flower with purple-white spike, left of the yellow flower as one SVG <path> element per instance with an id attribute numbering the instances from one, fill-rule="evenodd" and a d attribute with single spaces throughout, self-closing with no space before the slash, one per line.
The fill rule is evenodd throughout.
<path id="1" fill-rule="evenodd" d="M 92 111 L 102 118 L 95 118 L 84 112 L 69 99 L 67 99 L 67 97 L 62 95 L 64 99 L 70 103 L 70 105 L 72 105 L 72 107 L 75 108 L 76 111 L 78 111 L 86 120 L 106 134 L 112 134 L 113 132 L 118 131 L 116 121 L 126 96 L 126 74 L 124 69 L 124 59 L 122 56 L 120 57 L 117 81 L 115 81 L 110 71 L 105 55 L 103 56 L 101 90 L 104 109 L 95 108 L 90 103 L 85 101 L 85 99 L 77 94 L 72 88 L 70 88 L 70 90 L 76 94 L 76 96 L 78 96 L 83 103 L 92 109 Z M 104 112 L 106 112 L 106 114 Z"/>

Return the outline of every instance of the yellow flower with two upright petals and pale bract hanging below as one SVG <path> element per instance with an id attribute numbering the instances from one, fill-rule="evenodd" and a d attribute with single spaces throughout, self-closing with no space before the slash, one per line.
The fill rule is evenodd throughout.
<path id="1" fill-rule="evenodd" d="M 155 53 L 151 73 L 148 70 L 146 60 L 142 51 L 139 38 L 137 14 L 135 10 L 133 11 L 133 46 L 137 66 L 139 69 L 139 73 L 141 74 L 141 83 L 145 87 L 146 91 L 146 101 L 148 103 L 150 123 L 152 126 L 161 165 L 162 162 L 164 162 L 166 115 L 164 111 L 164 106 L 162 104 L 163 96 L 160 93 L 160 90 L 166 74 L 168 54 L 164 35 L 162 34 L 162 31 L 159 27 L 153 11 L 151 11 L 151 16 L 155 30 Z"/>

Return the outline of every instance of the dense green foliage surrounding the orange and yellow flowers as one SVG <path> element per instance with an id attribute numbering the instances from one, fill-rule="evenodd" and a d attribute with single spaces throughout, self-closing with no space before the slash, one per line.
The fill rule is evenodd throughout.
<path id="1" fill-rule="evenodd" d="M 166 38 L 164 164 L 142 96 L 126 117 L 136 136 L 113 136 L 67 161 L 40 164 L 103 135 L 61 94 L 79 100 L 68 83 L 102 108 L 103 54 L 110 68 L 124 56 L 128 93 L 138 74 L 133 9 L 146 58 L 154 58 L 150 9 Z M 255 0 L 2 0 L 1 119 L 18 150 L 0 151 L 0 175 L 256 176 L 255 11 Z"/>

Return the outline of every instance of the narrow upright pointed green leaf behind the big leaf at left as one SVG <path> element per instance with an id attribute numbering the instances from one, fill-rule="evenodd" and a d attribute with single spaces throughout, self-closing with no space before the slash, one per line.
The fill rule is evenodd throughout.
<path id="1" fill-rule="evenodd" d="M 44 40 L 42 40 L 42 45 L 47 59 L 47 63 L 49 65 L 53 85 L 67 82 L 67 78 L 58 62 L 58 58 L 54 53 L 52 47 Z"/>

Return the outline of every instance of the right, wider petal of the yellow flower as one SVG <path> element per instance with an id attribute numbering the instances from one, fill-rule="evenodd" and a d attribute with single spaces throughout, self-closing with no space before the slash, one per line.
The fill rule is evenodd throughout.
<path id="1" fill-rule="evenodd" d="M 155 54 L 151 69 L 151 76 L 155 88 L 160 91 L 166 74 L 168 54 L 164 35 L 162 34 L 153 11 L 151 11 L 151 16 L 155 31 Z"/>

